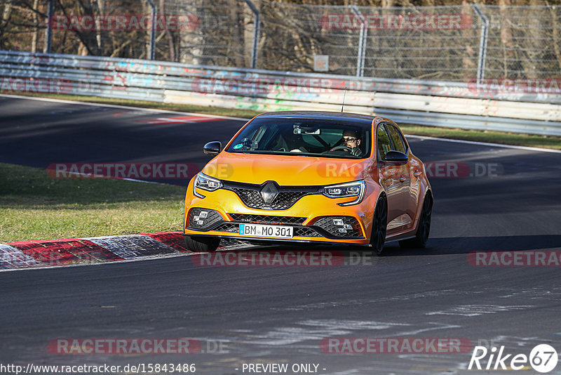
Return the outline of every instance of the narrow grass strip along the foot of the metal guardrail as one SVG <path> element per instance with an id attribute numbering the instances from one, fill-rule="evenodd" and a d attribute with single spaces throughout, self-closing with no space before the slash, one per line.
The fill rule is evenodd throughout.
<path id="1" fill-rule="evenodd" d="M 130 107 L 155 108 L 158 110 L 170 110 L 179 112 L 196 112 L 203 114 L 214 114 L 216 116 L 242 117 L 250 119 L 260 112 L 251 110 L 235 110 L 219 107 L 201 107 L 200 105 L 173 105 L 154 103 L 140 100 L 110 99 L 92 96 L 73 96 L 59 94 L 37 94 L 18 93 L 21 96 L 34 96 L 41 98 L 55 98 L 62 100 L 76 100 L 88 103 L 128 105 Z M 476 131 L 464 129 L 441 128 L 436 126 L 419 126 L 414 124 L 399 124 L 406 134 L 416 136 L 429 136 L 439 138 L 450 138 L 459 140 L 474 140 L 478 142 L 500 143 L 503 145 L 518 145 L 527 147 L 543 147 L 561 150 L 561 137 L 536 136 L 520 133 L 505 133 L 501 131 Z"/>

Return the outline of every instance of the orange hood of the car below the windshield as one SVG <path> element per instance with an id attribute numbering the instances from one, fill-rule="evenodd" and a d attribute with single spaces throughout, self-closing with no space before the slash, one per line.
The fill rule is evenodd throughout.
<path id="1" fill-rule="evenodd" d="M 330 185 L 360 180 L 371 167 L 368 159 L 221 152 L 203 168 L 203 173 L 241 183 L 273 180 L 278 185 Z"/>

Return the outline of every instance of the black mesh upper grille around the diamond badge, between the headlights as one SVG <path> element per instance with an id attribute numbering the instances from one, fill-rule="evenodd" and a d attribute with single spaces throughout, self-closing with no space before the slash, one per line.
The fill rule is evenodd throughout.
<path id="1" fill-rule="evenodd" d="M 245 206 L 251 209 L 285 210 L 290 209 L 298 200 L 305 195 L 320 194 L 320 186 L 278 186 L 278 193 L 270 204 L 266 204 L 259 193 L 266 183 L 262 185 L 250 183 L 235 183 L 222 181 L 224 189 L 235 192 Z"/>

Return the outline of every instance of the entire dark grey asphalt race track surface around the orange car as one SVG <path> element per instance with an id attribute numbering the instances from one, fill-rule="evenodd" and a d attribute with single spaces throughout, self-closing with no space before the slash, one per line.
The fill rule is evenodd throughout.
<path id="1" fill-rule="evenodd" d="M 139 121 L 158 117 L 0 98 L 0 162 L 205 162 L 202 145 L 227 140 L 243 124 Z M 473 374 L 467 370 L 471 348 L 338 354 L 324 353 L 320 343 L 461 338 L 473 346 L 505 346 L 513 355 L 529 355 L 541 343 L 559 353 L 560 266 L 475 267 L 468 254 L 561 250 L 561 154 L 409 140 L 424 162 L 473 169 L 473 176 L 431 178 L 428 249 L 388 244 L 386 256 L 353 265 L 355 254 L 344 253 L 346 264 L 330 267 L 202 267 L 193 256 L 180 256 L 0 272 L 0 362 L 194 363 L 197 374 L 248 374 L 244 363 L 273 362 L 318 364 L 317 374 Z M 59 355 L 48 350 L 57 338 L 195 338 L 201 352 Z M 560 371 L 558 364 L 550 374 Z"/>

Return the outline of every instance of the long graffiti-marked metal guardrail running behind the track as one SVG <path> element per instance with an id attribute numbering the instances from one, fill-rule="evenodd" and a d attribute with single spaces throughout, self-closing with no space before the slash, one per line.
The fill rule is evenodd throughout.
<path id="1" fill-rule="evenodd" d="M 0 51 L 0 93 L 68 93 L 257 111 L 341 110 L 410 124 L 561 136 L 561 95 L 176 62 Z"/>

